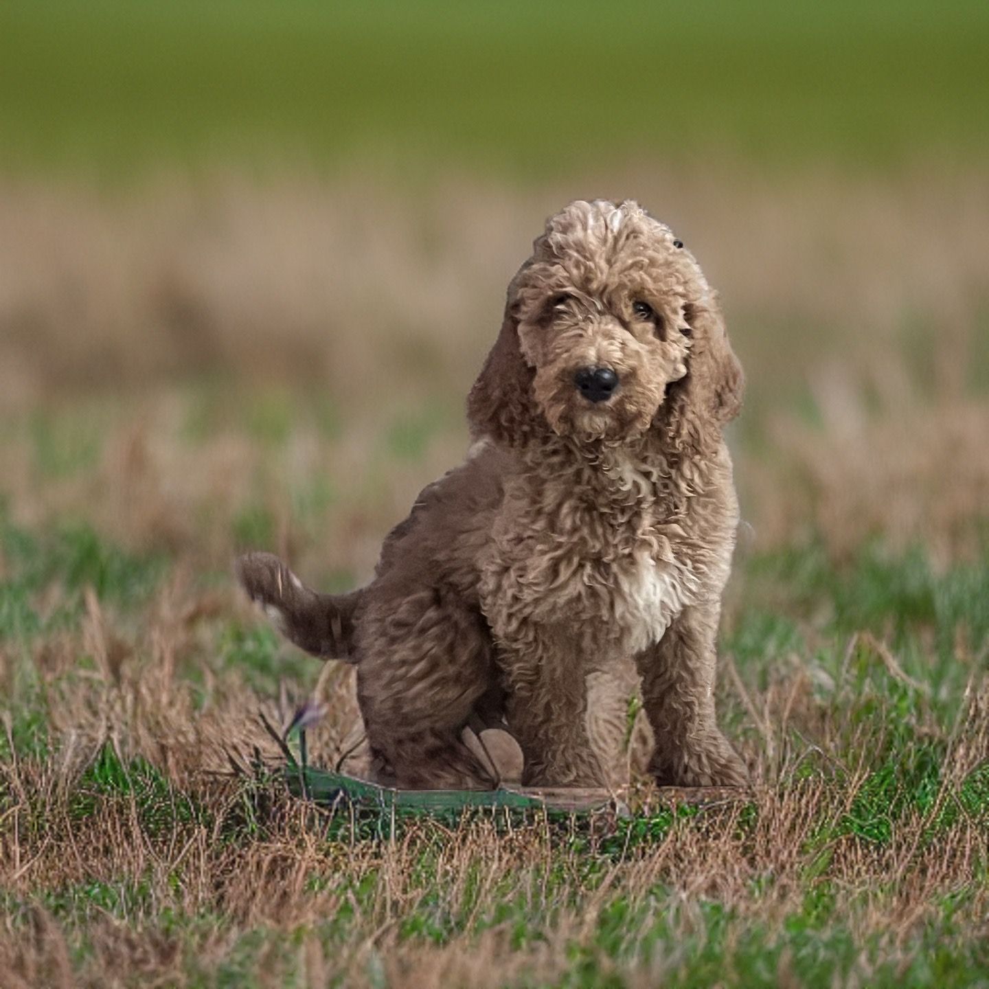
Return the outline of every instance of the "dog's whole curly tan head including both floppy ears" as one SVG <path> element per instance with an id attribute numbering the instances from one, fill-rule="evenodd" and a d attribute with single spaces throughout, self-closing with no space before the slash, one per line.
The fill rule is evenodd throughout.
<path id="1" fill-rule="evenodd" d="M 741 396 L 692 255 L 636 203 L 598 200 L 572 203 L 535 241 L 468 414 L 476 435 L 512 446 L 547 428 L 611 444 L 652 429 L 682 448 L 716 435 Z"/>

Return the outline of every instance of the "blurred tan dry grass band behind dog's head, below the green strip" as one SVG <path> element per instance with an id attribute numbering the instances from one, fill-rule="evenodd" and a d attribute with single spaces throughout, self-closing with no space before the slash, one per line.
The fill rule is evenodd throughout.
<path id="1" fill-rule="evenodd" d="M 4 400 L 204 368 L 309 378 L 348 399 L 371 390 L 372 404 L 419 376 L 462 390 L 543 218 L 601 195 L 632 195 L 674 225 L 723 293 L 756 383 L 829 359 L 879 374 L 913 322 L 939 390 L 960 388 L 989 298 L 983 174 L 880 183 L 708 167 L 528 192 L 219 175 L 108 196 L 6 179 Z M 888 370 L 877 382 L 896 385 Z"/>

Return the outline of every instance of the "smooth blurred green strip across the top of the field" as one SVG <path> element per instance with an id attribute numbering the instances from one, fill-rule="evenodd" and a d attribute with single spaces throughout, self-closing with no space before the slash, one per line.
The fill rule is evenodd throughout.
<path id="1" fill-rule="evenodd" d="M 950 165 L 989 151 L 987 44 L 973 0 L 14 0 L 0 166 Z"/>

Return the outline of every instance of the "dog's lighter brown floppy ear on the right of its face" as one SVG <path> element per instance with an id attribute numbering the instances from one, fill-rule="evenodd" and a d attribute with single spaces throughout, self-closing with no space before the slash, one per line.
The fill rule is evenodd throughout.
<path id="1" fill-rule="evenodd" d="M 662 427 L 674 449 L 709 447 L 717 442 L 722 427 L 738 415 L 745 377 L 728 342 L 717 300 L 708 297 L 688 304 L 683 315 L 694 342 L 686 377 L 670 389 L 670 407 Z"/>

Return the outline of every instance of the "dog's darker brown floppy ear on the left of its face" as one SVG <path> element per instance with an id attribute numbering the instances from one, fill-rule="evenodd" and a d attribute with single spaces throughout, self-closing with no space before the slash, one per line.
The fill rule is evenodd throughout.
<path id="1" fill-rule="evenodd" d="M 521 446 L 536 432 L 539 412 L 532 398 L 534 375 L 522 358 L 518 317 L 509 302 L 501 332 L 467 397 L 472 438 L 490 436 L 495 443 Z"/>

